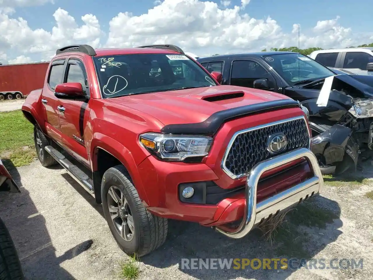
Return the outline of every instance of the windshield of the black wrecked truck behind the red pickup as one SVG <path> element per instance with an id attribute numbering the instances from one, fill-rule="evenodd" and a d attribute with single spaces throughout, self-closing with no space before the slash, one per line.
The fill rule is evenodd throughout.
<path id="1" fill-rule="evenodd" d="M 289 84 L 301 84 L 334 75 L 330 69 L 298 53 L 264 56 L 266 62 Z"/>

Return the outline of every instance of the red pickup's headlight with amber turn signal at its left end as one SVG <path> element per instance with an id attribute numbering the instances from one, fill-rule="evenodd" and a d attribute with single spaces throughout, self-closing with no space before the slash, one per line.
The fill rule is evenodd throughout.
<path id="1" fill-rule="evenodd" d="M 213 139 L 207 136 L 182 136 L 162 133 L 144 133 L 140 143 L 151 154 L 166 161 L 184 161 L 186 158 L 207 156 Z"/>

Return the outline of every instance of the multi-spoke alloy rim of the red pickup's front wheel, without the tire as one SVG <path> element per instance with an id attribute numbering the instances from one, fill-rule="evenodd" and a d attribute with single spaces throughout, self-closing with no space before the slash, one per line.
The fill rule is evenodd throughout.
<path id="1" fill-rule="evenodd" d="M 125 241 L 131 241 L 135 233 L 134 219 L 122 190 L 111 186 L 107 196 L 107 205 L 117 232 Z"/>

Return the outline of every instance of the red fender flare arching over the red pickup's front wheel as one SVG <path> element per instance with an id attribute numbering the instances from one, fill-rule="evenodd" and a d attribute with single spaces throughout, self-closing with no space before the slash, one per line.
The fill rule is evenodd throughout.
<path id="1" fill-rule="evenodd" d="M 137 164 L 132 156 L 132 153 L 115 139 L 106 136 L 105 134 L 96 132 L 93 134 L 89 147 L 92 171 L 97 171 L 96 149 L 103 149 L 123 164 L 123 166 L 127 169 L 132 181 L 134 182 L 141 201 L 148 205 L 149 200 L 142 181 L 140 180 L 140 173 L 138 172 Z"/>

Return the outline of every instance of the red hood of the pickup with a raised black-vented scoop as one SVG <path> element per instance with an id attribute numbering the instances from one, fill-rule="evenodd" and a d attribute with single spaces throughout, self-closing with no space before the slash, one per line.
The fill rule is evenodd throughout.
<path id="1" fill-rule="evenodd" d="M 106 102 L 144 112 L 167 125 L 202 122 L 218 111 L 279 99 L 290 98 L 270 91 L 218 85 L 114 97 Z"/>

